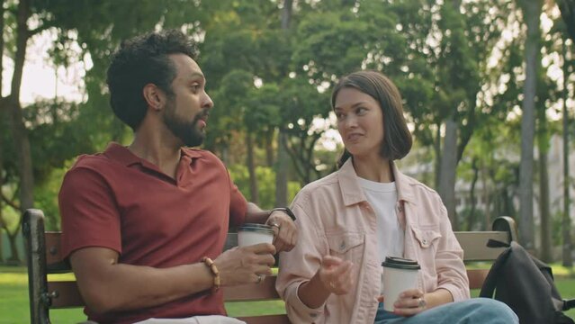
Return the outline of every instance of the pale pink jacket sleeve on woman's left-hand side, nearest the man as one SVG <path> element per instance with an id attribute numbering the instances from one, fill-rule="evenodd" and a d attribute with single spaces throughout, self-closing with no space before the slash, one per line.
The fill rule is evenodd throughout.
<path id="1" fill-rule="evenodd" d="M 298 227 L 298 242 L 289 252 L 280 254 L 279 274 L 275 288 L 285 301 L 285 309 L 292 323 L 311 323 L 317 321 L 323 314 L 324 306 L 310 309 L 298 297 L 301 284 L 310 281 L 319 269 L 322 256 L 328 255 L 327 238 L 317 224 L 310 219 L 302 196 L 292 203 L 292 211 L 296 216 Z"/>

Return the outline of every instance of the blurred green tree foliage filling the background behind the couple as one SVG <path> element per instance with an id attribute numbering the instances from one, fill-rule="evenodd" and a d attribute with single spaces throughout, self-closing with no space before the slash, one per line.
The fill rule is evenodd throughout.
<path id="1" fill-rule="evenodd" d="M 4 4 L 8 58 L 16 52 L 17 4 Z M 399 86 L 418 148 L 430 152 L 423 163 L 439 158 L 439 151 L 434 152 L 442 139 L 438 129 L 445 118 L 454 116 L 463 156 L 460 177 L 469 181 L 472 161 L 481 161 L 489 175 L 493 212 L 515 213 L 518 162 L 512 156 L 518 154 L 520 141 L 516 111 L 523 92 L 525 35 L 517 32 L 508 39 L 501 33 L 521 29 L 517 2 L 298 1 L 288 30 L 281 28 L 282 6 L 277 0 L 33 1 L 29 24 L 56 33 L 47 49 L 49 64 L 66 67 L 74 58 L 91 67 L 85 73 L 85 102 L 39 101 L 22 110 L 31 139 L 38 206 L 49 217 L 58 215 L 58 181 L 67 161 L 102 150 L 111 140 L 130 140 L 131 131 L 113 117 L 108 104 L 105 72 L 113 50 L 135 34 L 179 28 L 198 41 L 198 61 L 215 103 L 204 148 L 222 157 L 224 152 L 233 155 L 230 172 L 247 194 L 247 167 L 236 163 L 245 160 L 244 140 L 246 132 L 251 133 L 263 207 L 274 206 L 274 172 L 263 166 L 274 160 L 264 163 L 261 156 L 264 148 L 277 149 L 278 130 L 288 136 L 291 199 L 299 184 L 333 170 L 338 152 L 321 148 L 326 129 L 314 126 L 314 121 L 329 116 L 331 87 L 339 76 L 374 68 Z M 544 54 L 552 56 L 567 38 L 566 26 L 554 23 L 544 41 Z M 574 62 L 567 62 L 570 71 Z M 545 72 L 538 84 L 540 120 L 562 98 L 561 87 Z M 568 95 L 572 97 L 572 90 Z M 4 192 L 12 198 L 19 188 L 16 148 L 7 119 L 0 123 L 1 175 Z M 540 148 L 546 148 L 558 127 L 542 123 L 540 130 Z M 49 226 L 57 229 L 58 220 L 50 219 Z"/>

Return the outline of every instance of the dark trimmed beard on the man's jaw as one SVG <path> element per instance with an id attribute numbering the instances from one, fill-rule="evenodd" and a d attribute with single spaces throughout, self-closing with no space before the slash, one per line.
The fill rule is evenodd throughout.
<path id="1" fill-rule="evenodd" d="M 186 147 L 200 146 L 205 139 L 205 133 L 198 129 L 198 121 L 207 114 L 207 110 L 196 113 L 193 121 L 184 121 L 175 115 L 175 102 L 170 100 L 166 104 L 166 113 L 164 114 L 164 124 L 168 130 L 178 139 L 184 142 Z"/>

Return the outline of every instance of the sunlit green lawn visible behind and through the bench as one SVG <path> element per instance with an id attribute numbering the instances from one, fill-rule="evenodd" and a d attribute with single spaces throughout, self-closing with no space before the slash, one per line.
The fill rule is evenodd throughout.
<path id="1" fill-rule="evenodd" d="M 555 284 L 563 298 L 575 298 L 575 275 L 573 269 L 553 266 Z M 54 275 L 58 279 L 72 279 L 72 275 Z M 52 278 L 52 275 L 50 275 Z M 20 324 L 30 321 L 28 304 L 28 275 L 22 266 L 0 266 L 0 324 Z M 477 296 L 478 290 L 472 291 Z M 229 316 L 283 313 L 283 302 L 229 302 L 226 303 Z M 566 312 L 575 319 L 575 309 Z M 85 320 L 81 309 L 50 311 L 53 323 L 77 323 Z"/>

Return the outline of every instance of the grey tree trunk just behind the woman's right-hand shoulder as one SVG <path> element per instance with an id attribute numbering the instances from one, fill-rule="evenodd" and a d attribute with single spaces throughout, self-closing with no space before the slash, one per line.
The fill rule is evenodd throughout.
<path id="1" fill-rule="evenodd" d="M 455 176 L 457 171 L 457 121 L 450 117 L 445 121 L 444 149 L 441 156 L 439 195 L 445 203 L 454 230 L 459 229 L 455 211 Z"/>

